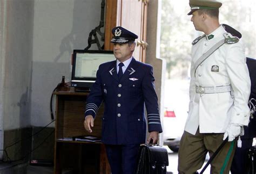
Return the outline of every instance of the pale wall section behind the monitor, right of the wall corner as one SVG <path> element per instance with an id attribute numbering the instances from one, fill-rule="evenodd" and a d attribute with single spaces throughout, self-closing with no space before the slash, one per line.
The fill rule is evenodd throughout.
<path id="1" fill-rule="evenodd" d="M 31 125 L 51 121 L 50 97 L 71 77 L 73 49 L 87 47 L 89 33 L 100 21 L 101 0 L 35 0 L 31 92 Z M 97 49 L 92 45 L 90 49 Z M 83 117 L 83 115 L 81 115 Z M 53 124 L 52 124 L 53 126 Z"/>

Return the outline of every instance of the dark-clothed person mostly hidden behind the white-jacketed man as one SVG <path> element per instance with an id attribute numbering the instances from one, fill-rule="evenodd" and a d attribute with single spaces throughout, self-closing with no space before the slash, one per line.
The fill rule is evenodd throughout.
<path id="1" fill-rule="evenodd" d="M 251 78 L 251 95 L 252 98 L 256 99 L 256 60 L 251 58 L 246 58 L 246 64 L 249 69 Z M 256 106 L 255 100 L 251 100 L 252 105 Z M 249 148 L 252 146 L 253 138 L 256 137 L 256 113 L 251 115 L 250 123 L 248 127 L 244 127 L 245 134 L 241 136 L 242 147 L 235 149 L 235 155 L 231 165 L 232 174 L 243 174 L 245 173 L 245 161 L 246 154 Z"/>

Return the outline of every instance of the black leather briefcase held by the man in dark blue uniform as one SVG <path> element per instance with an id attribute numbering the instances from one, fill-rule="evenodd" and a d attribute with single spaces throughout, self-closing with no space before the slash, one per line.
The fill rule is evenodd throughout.
<path id="1" fill-rule="evenodd" d="M 136 174 L 166 174 L 168 165 L 168 153 L 164 147 L 157 144 L 140 146 Z"/>

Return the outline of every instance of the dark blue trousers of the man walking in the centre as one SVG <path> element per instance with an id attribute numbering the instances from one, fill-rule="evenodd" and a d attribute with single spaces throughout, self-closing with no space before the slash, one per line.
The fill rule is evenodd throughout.
<path id="1" fill-rule="evenodd" d="M 134 174 L 137 166 L 140 144 L 105 144 L 107 159 L 112 174 Z"/>

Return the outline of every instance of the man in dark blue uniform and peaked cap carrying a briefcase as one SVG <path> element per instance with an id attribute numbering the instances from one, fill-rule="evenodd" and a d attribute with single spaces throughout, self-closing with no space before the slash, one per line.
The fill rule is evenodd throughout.
<path id="1" fill-rule="evenodd" d="M 104 102 L 102 142 L 112 174 L 133 174 L 139 146 L 146 140 L 146 120 L 150 132 L 147 143 L 158 141 L 162 132 L 153 68 L 132 56 L 138 36 L 123 27 L 112 29 L 116 61 L 99 66 L 97 79 L 86 100 L 84 127 L 92 132 L 97 110 Z"/>

